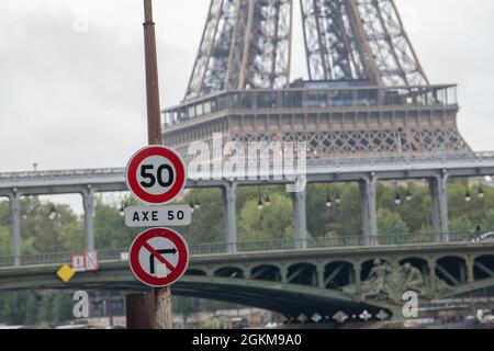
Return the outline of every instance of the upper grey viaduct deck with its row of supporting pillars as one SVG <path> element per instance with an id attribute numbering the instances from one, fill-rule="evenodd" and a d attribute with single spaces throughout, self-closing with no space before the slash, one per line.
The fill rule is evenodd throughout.
<path id="1" fill-rule="evenodd" d="M 269 185 L 323 182 L 358 182 L 362 216 L 363 245 L 379 245 L 377 220 L 377 184 L 379 181 L 424 179 L 431 195 L 433 228 L 436 242 L 448 242 L 448 181 L 452 178 L 494 174 L 494 152 L 397 155 L 386 157 L 308 159 L 303 169 L 277 168 L 267 165 L 259 168 L 255 178 L 244 179 L 238 172 L 211 172 L 189 167 L 187 188 L 221 188 L 223 192 L 225 242 L 228 252 L 237 251 L 236 189 L 243 185 Z M 293 186 L 296 188 L 296 186 Z M 13 256 L 19 264 L 21 256 L 20 197 L 41 194 L 80 193 L 83 199 L 87 248 L 94 249 L 92 223 L 93 195 L 97 192 L 126 191 L 123 168 L 61 171 L 35 171 L 0 173 L 0 196 L 10 200 L 12 214 Z M 288 189 L 289 190 L 289 189 Z M 305 248 L 307 237 L 305 190 L 292 193 L 294 212 L 294 241 Z M 294 191 L 289 190 L 289 191 Z"/>

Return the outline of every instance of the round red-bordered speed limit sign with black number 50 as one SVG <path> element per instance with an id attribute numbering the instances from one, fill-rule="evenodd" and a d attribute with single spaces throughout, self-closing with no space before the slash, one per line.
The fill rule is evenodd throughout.
<path id="1" fill-rule="evenodd" d="M 148 204 L 166 204 L 186 186 L 186 167 L 172 149 L 151 145 L 131 158 L 125 172 L 131 192 Z"/>

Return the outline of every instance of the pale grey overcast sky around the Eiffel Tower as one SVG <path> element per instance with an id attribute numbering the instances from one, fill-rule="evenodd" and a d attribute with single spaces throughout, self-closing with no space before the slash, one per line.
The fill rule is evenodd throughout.
<path id="1" fill-rule="evenodd" d="M 459 83 L 465 139 L 494 150 L 494 1 L 396 2 L 431 82 Z M 155 0 L 162 106 L 183 95 L 207 7 Z M 0 171 L 126 163 L 146 143 L 142 22 L 142 0 L 0 1 Z"/>

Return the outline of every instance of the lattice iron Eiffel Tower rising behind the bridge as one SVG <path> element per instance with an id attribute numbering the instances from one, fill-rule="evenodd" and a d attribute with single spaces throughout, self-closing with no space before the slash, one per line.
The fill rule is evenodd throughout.
<path id="1" fill-rule="evenodd" d="M 430 84 L 393 0 L 300 0 L 308 80 L 291 80 L 292 0 L 212 0 L 164 138 L 305 141 L 307 157 L 464 152 L 456 84 Z M 245 144 L 246 145 L 246 144 Z"/>

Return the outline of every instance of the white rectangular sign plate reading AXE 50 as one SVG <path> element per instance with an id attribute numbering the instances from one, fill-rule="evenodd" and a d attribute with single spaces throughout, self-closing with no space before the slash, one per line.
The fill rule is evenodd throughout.
<path id="1" fill-rule="evenodd" d="M 125 225 L 135 227 L 188 226 L 192 220 L 190 206 L 134 206 L 124 210 Z"/>

